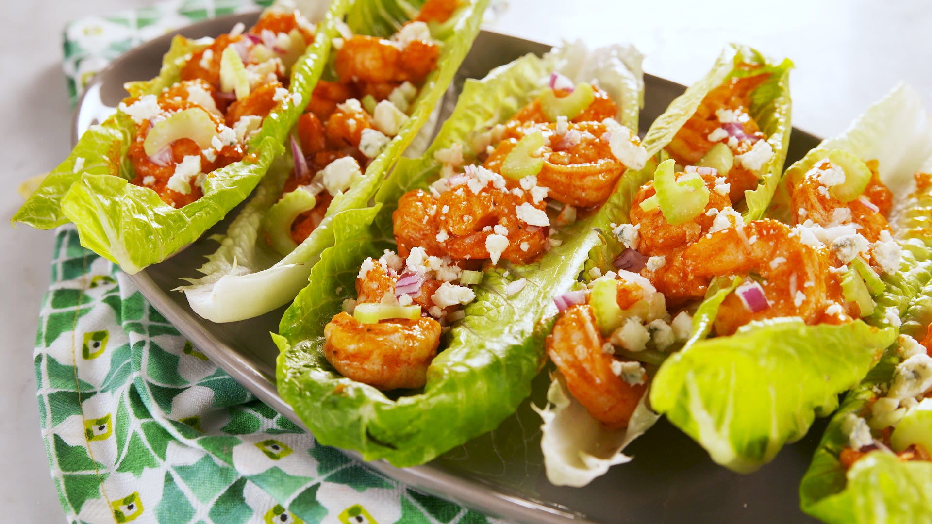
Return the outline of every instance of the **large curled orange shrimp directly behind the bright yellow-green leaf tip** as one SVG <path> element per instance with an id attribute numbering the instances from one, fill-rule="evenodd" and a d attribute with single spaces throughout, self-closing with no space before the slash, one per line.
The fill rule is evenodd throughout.
<path id="1" fill-rule="evenodd" d="M 748 310 L 731 294 L 721 303 L 715 319 L 719 335 L 731 335 L 751 321 L 775 317 L 800 317 L 815 324 L 826 310 L 828 251 L 816 250 L 775 220 L 756 220 L 742 228 L 710 233 L 682 253 L 686 268 L 696 275 L 744 275 L 760 277 L 770 307 Z"/>

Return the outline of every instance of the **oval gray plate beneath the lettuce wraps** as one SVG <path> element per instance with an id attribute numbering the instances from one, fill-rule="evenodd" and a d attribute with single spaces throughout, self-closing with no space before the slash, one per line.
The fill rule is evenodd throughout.
<path id="1" fill-rule="evenodd" d="M 179 33 L 189 37 L 225 33 L 237 21 L 250 25 L 256 14 L 240 14 L 201 22 Z M 123 83 L 158 75 L 161 56 L 171 35 L 135 48 L 95 77 L 75 114 L 75 137 L 89 125 L 113 113 L 126 96 Z M 483 31 L 462 63 L 447 93 L 441 121 L 455 103 L 465 78 L 480 78 L 500 64 L 550 46 L 506 34 Z M 688 52 L 684 49 L 684 52 Z M 683 86 L 645 76 L 642 127 L 660 115 Z M 817 140 L 793 131 L 788 162 L 800 159 Z M 234 216 L 235 213 L 230 214 Z M 226 230 L 229 218 L 209 232 Z M 204 238 L 209 236 L 205 235 Z M 196 315 L 182 293 L 172 292 L 181 277 L 194 277 L 203 256 L 216 243 L 200 240 L 161 264 L 131 277 L 152 305 L 201 352 L 269 406 L 302 424 L 275 389 L 278 351 L 269 331 L 278 331 L 282 310 L 249 321 L 213 324 Z M 534 400 L 542 404 L 546 377 L 537 379 Z M 487 514 L 521 522 L 812 522 L 799 510 L 797 490 L 825 423 L 816 422 L 801 442 L 784 448 L 774 462 L 753 475 L 740 476 L 711 462 L 692 439 L 660 421 L 627 452 L 636 460 L 618 465 L 582 489 L 558 488 L 543 476 L 539 447 L 540 418 L 526 402 L 518 413 L 489 434 L 453 449 L 418 467 L 399 469 L 388 462 L 370 462 L 378 471 L 418 490 L 444 497 Z M 353 452 L 350 455 L 358 456 Z"/>

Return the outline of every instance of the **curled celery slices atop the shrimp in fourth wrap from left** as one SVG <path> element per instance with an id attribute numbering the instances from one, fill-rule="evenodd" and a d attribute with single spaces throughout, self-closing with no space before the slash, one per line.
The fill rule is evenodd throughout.
<path id="1" fill-rule="evenodd" d="M 676 178 L 676 162 L 664 160 L 653 173 L 653 186 L 657 190 L 660 211 L 671 226 L 678 226 L 695 218 L 706 209 L 708 188 L 702 177 L 686 173 Z M 641 209 L 644 209 L 643 202 Z"/>

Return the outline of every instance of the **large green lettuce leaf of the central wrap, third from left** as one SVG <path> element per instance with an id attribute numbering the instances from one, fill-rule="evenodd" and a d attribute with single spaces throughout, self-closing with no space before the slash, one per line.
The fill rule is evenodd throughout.
<path id="1" fill-rule="evenodd" d="M 574 44 L 543 59 L 525 56 L 468 80 L 453 115 L 422 159 L 402 159 L 377 193 L 377 205 L 334 219 L 336 244 L 322 253 L 310 284 L 295 298 L 273 335 L 281 354 L 279 393 L 322 443 L 359 450 L 365 460 L 398 466 L 427 462 L 498 426 L 530 393 L 543 363 L 542 341 L 555 307 L 553 296 L 576 282 L 586 254 L 596 245 L 594 228 L 608 228 L 624 205 L 627 177 L 600 211 L 555 233 L 553 249 L 535 263 L 500 261 L 473 287 L 475 299 L 452 324 L 445 350 L 433 358 L 423 390 L 387 396 L 341 377 L 322 354 L 323 326 L 353 293 L 363 258 L 394 247 L 391 213 L 406 191 L 425 188 L 440 171 L 434 153 L 469 145 L 476 134 L 503 123 L 535 98 L 546 76 L 559 71 L 574 81 L 597 80 L 619 106 L 619 122 L 637 129 L 642 97 L 639 53 L 620 46 L 588 51 Z M 472 150 L 472 148 L 464 148 Z M 358 224 L 370 224 L 360 228 Z M 525 279 L 518 292 L 509 284 Z"/>

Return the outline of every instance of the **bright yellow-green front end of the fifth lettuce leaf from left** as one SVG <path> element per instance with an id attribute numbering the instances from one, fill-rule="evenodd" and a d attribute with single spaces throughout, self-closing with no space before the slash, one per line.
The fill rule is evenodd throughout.
<path id="1" fill-rule="evenodd" d="M 713 461 L 749 473 L 802 438 L 816 413 L 837 407 L 838 393 L 857 385 L 896 335 L 862 321 L 747 324 L 670 356 L 651 383 L 651 407 Z"/>

